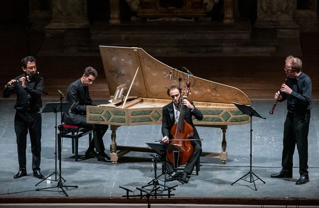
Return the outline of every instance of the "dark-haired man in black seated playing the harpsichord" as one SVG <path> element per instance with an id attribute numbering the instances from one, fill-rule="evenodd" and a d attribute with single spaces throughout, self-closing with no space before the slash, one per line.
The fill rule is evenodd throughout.
<path id="1" fill-rule="evenodd" d="M 67 89 L 66 101 L 75 102 L 70 112 L 63 113 L 62 121 L 66 124 L 76 125 L 85 129 L 93 130 L 93 139 L 85 152 L 87 158 L 96 157 L 99 161 L 106 162 L 110 157 L 104 152 L 103 135 L 108 125 L 89 124 L 86 122 L 86 106 L 96 106 L 90 98 L 89 86 L 98 76 L 93 67 L 86 67 L 80 79 L 71 83 Z M 94 151 L 94 148 L 96 151 Z"/>

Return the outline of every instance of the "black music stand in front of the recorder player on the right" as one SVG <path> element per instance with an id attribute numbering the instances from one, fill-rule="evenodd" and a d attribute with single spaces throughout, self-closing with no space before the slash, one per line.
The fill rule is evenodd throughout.
<path id="1" fill-rule="evenodd" d="M 250 175 L 250 180 L 247 181 L 249 183 L 254 183 L 254 186 L 255 186 L 255 190 L 257 190 L 257 187 L 256 187 L 256 184 L 255 184 L 255 181 L 256 180 L 260 180 L 262 181 L 264 184 L 266 182 L 264 182 L 263 180 L 261 180 L 253 171 L 252 171 L 252 133 L 253 133 L 253 129 L 252 129 L 252 117 L 253 116 L 256 116 L 256 117 L 259 117 L 259 118 L 263 118 L 263 119 L 266 119 L 265 117 L 262 117 L 253 107 L 251 106 L 247 106 L 247 105 L 242 105 L 242 104 L 239 104 L 239 103 L 235 103 L 233 102 L 236 107 L 239 109 L 239 111 L 241 111 L 241 113 L 243 114 L 246 114 L 246 115 L 249 115 L 250 116 L 250 171 L 247 172 L 244 176 L 240 177 L 237 181 L 239 181 L 240 179 L 241 180 L 244 180 L 244 181 L 247 181 L 245 179 L 243 179 L 246 175 Z M 257 177 L 257 179 L 254 179 L 254 175 Z M 231 186 L 233 186 L 233 184 L 235 184 L 237 181 L 235 181 L 234 183 L 231 184 Z"/>

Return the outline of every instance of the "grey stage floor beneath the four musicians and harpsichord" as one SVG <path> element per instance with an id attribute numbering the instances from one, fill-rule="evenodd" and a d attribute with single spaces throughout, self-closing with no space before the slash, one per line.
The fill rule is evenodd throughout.
<path id="1" fill-rule="evenodd" d="M 59 100 L 43 100 L 43 103 Z M 99 101 L 103 103 L 102 100 Z M 314 109 L 309 132 L 309 176 L 310 182 L 305 185 L 295 185 L 299 178 L 298 152 L 294 155 L 294 177 L 291 180 L 270 178 L 272 173 L 281 170 L 282 131 L 285 119 L 286 105 L 279 103 L 274 115 L 268 112 L 273 105 L 273 100 L 253 100 L 252 106 L 266 120 L 253 117 L 253 172 L 260 180 L 256 181 L 257 191 L 253 183 L 239 180 L 246 174 L 250 167 L 250 124 L 228 126 L 226 132 L 228 160 L 221 164 L 219 159 L 201 157 L 200 172 L 195 171 L 188 184 L 168 182 L 167 186 L 179 185 L 172 193 L 174 197 L 257 197 L 257 198 L 319 198 L 319 101 L 314 101 Z M 32 176 L 31 169 L 31 144 L 27 142 L 27 171 L 28 175 L 13 179 L 19 169 L 17 159 L 16 136 L 13 127 L 14 99 L 0 99 L 0 197 L 41 197 L 64 196 L 58 188 L 36 191 L 36 188 L 56 187 L 57 182 L 40 182 Z M 58 123 L 60 115 L 58 114 Z M 202 139 L 203 151 L 219 152 L 221 150 L 221 131 L 215 128 L 198 127 Z M 108 130 L 104 136 L 104 144 L 109 153 L 111 132 Z M 144 142 L 153 142 L 161 138 L 160 126 L 131 126 L 120 127 L 117 131 L 118 145 L 147 147 Z M 55 171 L 55 114 L 42 113 L 42 152 L 41 171 L 47 176 Z M 84 154 L 88 146 L 87 137 L 80 139 L 79 153 Z M 142 162 L 138 158 L 121 160 L 117 165 L 99 162 L 96 159 L 75 162 L 70 158 L 71 141 L 63 139 L 61 175 L 70 188 L 66 192 L 69 196 L 88 197 L 120 197 L 126 191 L 119 186 L 131 189 L 135 195 L 140 191 L 137 187 L 147 185 L 154 177 L 152 162 Z M 131 152 L 128 156 L 152 158 L 150 153 Z M 161 168 L 160 164 L 159 167 Z M 58 170 L 59 171 L 59 170 Z M 161 170 L 158 170 L 159 174 Z M 52 176 L 54 179 L 54 175 Z M 249 180 L 249 178 L 246 178 Z M 161 182 L 160 182 L 161 183 Z M 161 183 L 162 184 L 162 183 Z M 133 194 L 130 192 L 130 194 Z"/>

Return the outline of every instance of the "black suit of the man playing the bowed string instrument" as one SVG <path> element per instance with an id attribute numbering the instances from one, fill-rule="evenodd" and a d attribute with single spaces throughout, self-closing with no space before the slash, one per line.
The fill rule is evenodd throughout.
<path id="1" fill-rule="evenodd" d="M 190 102 L 193 106 L 193 102 Z M 191 111 L 189 108 L 185 107 L 185 121 L 190 124 L 193 129 L 194 129 L 194 135 L 190 138 L 193 139 L 199 139 L 199 134 L 193 124 L 192 121 L 192 116 L 195 116 L 195 118 L 197 120 L 202 120 L 203 119 L 203 114 L 195 108 L 193 111 Z M 162 134 L 163 136 L 168 136 L 169 139 L 173 138 L 173 135 L 171 134 L 171 129 L 173 127 L 173 125 L 175 124 L 175 115 L 174 115 L 174 104 L 173 102 L 164 106 L 162 108 Z M 191 174 L 194 170 L 194 167 L 197 163 L 197 160 L 200 156 L 201 153 L 201 142 L 200 140 L 191 140 L 190 141 L 192 146 L 194 147 L 194 152 L 193 155 L 190 157 L 190 159 L 188 160 L 186 167 L 184 169 L 184 172 L 187 172 L 188 174 Z M 174 171 L 174 167 L 170 162 L 166 161 L 166 170 L 168 173 Z"/>

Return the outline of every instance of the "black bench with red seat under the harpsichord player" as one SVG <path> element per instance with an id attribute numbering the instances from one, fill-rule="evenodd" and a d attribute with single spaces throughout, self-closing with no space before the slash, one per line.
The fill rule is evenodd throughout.
<path id="1" fill-rule="evenodd" d="M 79 157 L 79 138 L 89 134 L 89 143 L 92 140 L 92 130 L 87 130 L 78 126 L 62 124 L 58 126 L 58 140 L 61 138 L 71 138 L 72 141 L 72 154 L 75 154 L 75 161 L 78 161 Z M 60 152 L 59 152 L 60 154 Z"/>

